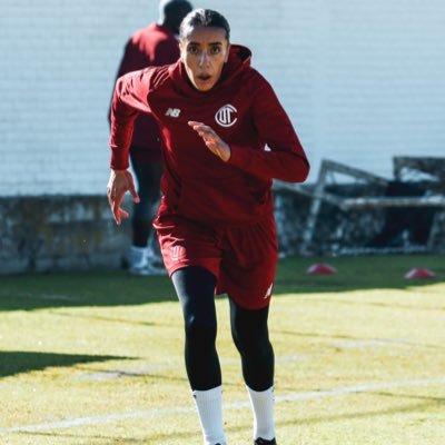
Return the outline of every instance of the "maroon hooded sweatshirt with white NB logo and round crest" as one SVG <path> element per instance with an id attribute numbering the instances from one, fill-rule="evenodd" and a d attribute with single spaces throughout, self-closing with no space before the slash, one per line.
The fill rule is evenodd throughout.
<path id="1" fill-rule="evenodd" d="M 306 179 L 309 164 L 294 127 L 250 58 L 247 48 L 231 46 L 220 80 L 205 92 L 192 87 L 180 60 L 118 79 L 111 168 L 129 167 L 132 121 L 138 112 L 150 112 L 165 142 L 160 216 L 175 214 L 214 226 L 256 222 L 274 211 L 273 178 Z M 188 126 L 190 120 L 210 126 L 230 146 L 227 162 L 210 152 Z"/>

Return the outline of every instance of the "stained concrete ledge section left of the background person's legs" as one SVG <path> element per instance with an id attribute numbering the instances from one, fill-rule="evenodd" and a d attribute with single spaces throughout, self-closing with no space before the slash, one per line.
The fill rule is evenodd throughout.
<path id="1" fill-rule="evenodd" d="M 0 198 L 0 274 L 117 268 L 130 239 L 105 196 Z"/>

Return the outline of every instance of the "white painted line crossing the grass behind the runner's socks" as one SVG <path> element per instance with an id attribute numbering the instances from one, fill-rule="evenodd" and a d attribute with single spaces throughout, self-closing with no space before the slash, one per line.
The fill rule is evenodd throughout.
<path id="1" fill-rule="evenodd" d="M 335 397 L 335 396 L 345 396 L 348 394 L 356 393 L 368 393 L 373 390 L 382 390 L 382 389 L 394 389 L 394 388 L 408 388 L 408 387 L 418 387 L 418 386 L 433 386 L 445 384 L 445 377 L 437 378 L 425 378 L 425 379 L 412 379 L 412 380 L 394 380 L 394 382 L 377 382 L 369 383 L 364 385 L 356 386 L 340 386 L 338 388 L 325 389 L 325 390 L 312 390 L 307 393 L 288 393 L 284 395 L 278 395 L 275 397 L 276 403 L 283 402 L 294 402 L 294 400 L 308 400 L 322 397 Z M 241 409 L 248 408 L 250 406 L 249 402 L 233 402 L 224 405 L 224 409 Z M 43 431 L 55 431 L 62 428 L 72 428 L 77 426 L 85 425 L 105 425 L 111 424 L 115 422 L 122 421 L 132 421 L 138 418 L 147 418 L 154 416 L 162 416 L 162 415 L 171 415 L 171 414 L 180 414 L 180 413 L 192 413 L 195 412 L 194 406 L 184 406 L 184 407 L 168 407 L 168 408 L 159 408 L 159 409 L 146 409 L 146 411 L 137 411 L 130 413 L 116 413 L 108 414 L 103 416 L 89 416 L 89 417 L 77 417 L 77 418 L 67 418 L 65 421 L 51 422 L 46 424 L 36 424 L 36 425 L 21 425 L 21 426 L 12 426 L 9 428 L 0 428 L 0 434 L 8 433 L 37 433 Z"/>

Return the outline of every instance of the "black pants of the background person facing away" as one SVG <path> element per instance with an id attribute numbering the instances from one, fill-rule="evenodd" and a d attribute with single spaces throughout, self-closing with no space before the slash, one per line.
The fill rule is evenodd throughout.
<path id="1" fill-rule="evenodd" d="M 146 247 L 152 229 L 155 205 L 160 197 L 160 177 L 162 162 L 140 162 L 131 157 L 131 167 L 135 171 L 140 202 L 134 207 L 131 219 L 132 245 Z"/>

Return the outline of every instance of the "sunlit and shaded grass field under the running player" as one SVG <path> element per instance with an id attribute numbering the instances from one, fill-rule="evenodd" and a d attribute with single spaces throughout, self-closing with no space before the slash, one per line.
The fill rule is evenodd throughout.
<path id="1" fill-rule="evenodd" d="M 281 260 L 269 322 L 280 445 L 445 443 L 444 259 Z M 338 274 L 307 275 L 316 261 Z M 405 279 L 413 267 L 437 276 Z M 0 283 L 0 444 L 201 444 L 168 278 Z M 228 444 L 251 445 L 225 297 L 217 308 Z"/>

